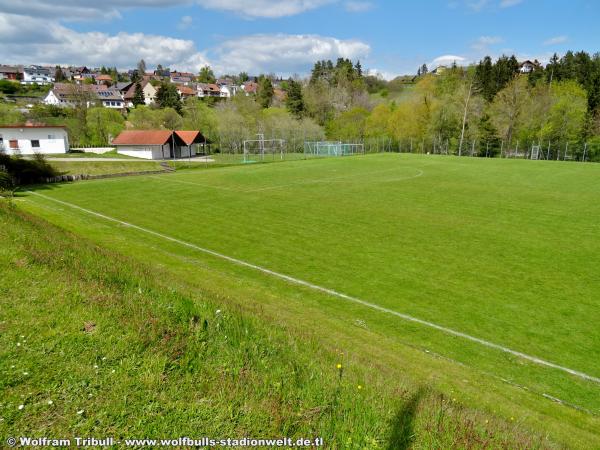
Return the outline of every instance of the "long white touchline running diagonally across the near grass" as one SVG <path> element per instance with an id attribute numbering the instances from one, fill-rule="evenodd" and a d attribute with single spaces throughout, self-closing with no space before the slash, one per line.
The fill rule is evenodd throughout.
<path id="1" fill-rule="evenodd" d="M 357 304 L 362 305 L 362 306 L 366 306 L 367 308 L 371 308 L 371 309 L 374 309 L 376 311 L 380 311 L 380 312 L 383 312 L 383 313 L 391 314 L 393 316 L 400 317 L 401 319 L 404 319 L 406 321 L 418 323 L 420 325 L 424 325 L 426 327 L 433 328 L 435 330 L 441 331 L 441 332 L 449 334 L 451 336 L 460 337 L 460 338 L 466 339 L 468 341 L 475 342 L 477 344 L 483 345 L 485 347 L 493 348 L 495 350 L 500 350 L 501 352 L 508 353 L 510 355 L 513 355 L 513 356 L 518 356 L 519 358 L 525 359 L 525 360 L 533 362 L 535 364 L 539 364 L 541 366 L 546 366 L 546 367 L 550 367 L 552 369 L 560 370 L 562 372 L 566 372 L 566 373 L 568 373 L 570 375 L 576 376 L 576 377 L 581 378 L 583 380 L 592 381 L 594 383 L 599 383 L 600 384 L 600 378 L 594 377 L 592 375 L 588 375 L 588 374 L 586 374 L 584 372 L 579 372 L 577 370 L 573 370 L 573 369 L 570 369 L 568 367 L 560 366 L 558 364 L 555 364 L 555 363 L 543 360 L 541 358 L 538 358 L 538 357 L 535 357 L 535 356 L 531 356 L 531 355 L 527 355 L 526 353 L 521 353 L 521 352 L 519 352 L 517 350 L 512 350 L 512 349 L 510 349 L 508 347 L 504 347 L 504 346 L 499 345 L 499 344 L 494 344 L 493 342 L 489 342 L 489 341 L 486 341 L 484 339 L 480 339 L 480 338 L 477 338 L 475 336 L 471 336 L 469 334 L 462 333 L 460 331 L 456 331 L 456 330 L 453 330 L 451 328 L 447 328 L 447 327 L 444 327 L 442 325 L 438 325 L 438 324 L 433 323 L 433 322 L 428 322 L 426 320 L 419 319 L 419 318 L 416 318 L 416 317 L 413 317 L 413 316 L 409 316 L 408 314 L 403 314 L 403 313 L 400 313 L 398 311 L 394 311 L 392 309 L 388 309 L 388 308 L 385 308 L 383 306 L 376 305 L 374 303 L 369 303 L 369 302 L 367 302 L 365 300 L 361 300 L 361 299 L 359 299 L 357 297 L 352 297 L 350 295 L 346 295 L 346 294 L 343 294 L 341 292 L 334 291 L 333 289 L 329 289 L 329 288 L 325 288 L 325 287 L 322 287 L 322 286 L 318 286 L 316 284 L 309 283 L 308 281 L 304 281 L 304 280 L 301 280 L 299 278 L 294 278 L 294 277 L 291 277 L 289 275 L 285 275 L 285 274 L 282 274 L 282 273 L 279 273 L 279 272 L 274 272 L 274 271 L 272 271 L 270 269 L 267 269 L 267 268 L 264 268 L 264 267 L 261 267 L 261 266 L 257 266 L 255 264 L 243 261 L 241 259 L 233 258 L 231 256 L 227 256 L 227 255 L 224 255 L 222 253 L 215 252 L 213 250 L 209 250 L 209 249 L 206 249 L 206 248 L 203 248 L 203 247 L 199 247 L 199 246 L 197 246 L 195 244 L 192 244 L 192 243 L 189 243 L 189 242 L 186 242 L 186 241 L 182 241 L 180 239 L 168 236 L 166 234 L 158 233 L 156 231 L 152 231 L 152 230 L 149 230 L 147 228 L 143 228 L 143 227 L 140 227 L 138 225 L 134 225 L 134 224 L 129 223 L 129 222 L 124 222 L 122 220 L 115 219 L 114 217 L 110 217 L 110 216 L 98 213 L 96 211 L 92 211 L 90 209 L 82 208 L 81 206 L 77 206 L 77 205 L 75 205 L 73 203 L 69 203 L 69 202 L 58 200 L 58 199 L 55 199 L 55 198 L 52 198 L 52 197 L 48 197 L 46 195 L 39 194 L 37 192 L 32 192 L 32 191 L 26 191 L 26 192 L 29 193 L 29 194 L 32 194 L 32 195 L 37 195 L 38 197 L 42 197 L 42 198 L 45 198 L 47 200 L 50 200 L 50 201 L 53 201 L 53 202 L 56 202 L 56 203 L 60 203 L 60 204 L 65 205 L 65 206 L 69 206 L 69 207 L 71 207 L 73 209 L 77 209 L 79 211 L 86 212 L 86 213 L 91 214 L 93 216 L 100 217 L 102 219 L 105 219 L 105 220 L 108 220 L 108 221 L 111 221 L 111 222 L 119 223 L 121 225 L 125 225 L 127 227 L 134 228 L 134 229 L 136 229 L 138 231 L 142 231 L 144 233 L 151 234 L 151 235 L 159 237 L 161 239 L 165 239 L 167 241 L 175 242 L 175 243 L 180 244 L 180 245 L 182 245 L 184 247 L 192 248 L 192 249 L 197 250 L 199 252 L 206 253 L 208 255 L 212 255 L 212 256 L 215 256 L 217 258 L 224 259 L 224 260 L 229 261 L 229 262 L 231 262 L 233 264 L 237 264 L 239 266 L 248 267 L 250 269 L 254 269 L 254 270 L 257 270 L 259 272 L 266 273 L 266 274 L 271 275 L 273 277 L 285 280 L 285 281 L 287 281 L 289 283 L 297 284 L 297 285 L 304 286 L 304 287 L 307 287 L 307 288 L 315 290 L 315 291 L 323 292 L 323 293 L 331 295 L 333 297 L 342 298 L 344 300 L 348 300 L 350 302 L 357 303 Z"/>

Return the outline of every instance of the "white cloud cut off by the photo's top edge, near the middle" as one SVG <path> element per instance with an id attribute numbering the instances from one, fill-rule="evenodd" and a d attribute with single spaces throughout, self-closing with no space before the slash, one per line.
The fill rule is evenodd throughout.
<path id="1" fill-rule="evenodd" d="M 244 17 L 277 18 L 320 8 L 335 0 L 196 0 L 208 9 L 229 11 Z"/>

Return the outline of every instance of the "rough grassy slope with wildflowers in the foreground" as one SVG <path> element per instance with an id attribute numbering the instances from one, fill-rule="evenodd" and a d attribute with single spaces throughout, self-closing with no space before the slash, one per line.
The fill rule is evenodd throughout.
<path id="1" fill-rule="evenodd" d="M 3 439 L 283 435 L 321 436 L 328 448 L 551 445 L 3 204 L 0 230 Z"/>

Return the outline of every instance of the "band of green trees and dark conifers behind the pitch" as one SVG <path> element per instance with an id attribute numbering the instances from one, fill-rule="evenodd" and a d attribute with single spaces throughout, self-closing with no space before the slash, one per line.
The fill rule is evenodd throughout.
<path id="1" fill-rule="evenodd" d="M 600 54 L 569 51 L 532 64 L 522 73 L 514 56 L 485 57 L 386 81 L 340 58 L 317 61 L 305 78 L 261 75 L 250 96 L 182 102 L 163 82 L 155 105 L 124 113 L 87 104 L 23 112 L 0 103 L 0 122 L 64 124 L 83 146 L 107 145 L 125 128 L 165 128 L 199 129 L 222 152 L 262 133 L 285 139 L 288 151 L 329 139 L 365 143 L 367 151 L 527 157 L 536 146 L 547 159 L 600 160 Z M 285 96 L 274 95 L 275 83 Z"/>

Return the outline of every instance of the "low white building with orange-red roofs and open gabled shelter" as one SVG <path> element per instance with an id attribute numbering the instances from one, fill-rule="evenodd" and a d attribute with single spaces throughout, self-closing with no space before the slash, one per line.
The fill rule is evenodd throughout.
<path id="1" fill-rule="evenodd" d="M 113 139 L 117 153 L 142 159 L 191 158 L 206 139 L 199 131 L 127 130 Z"/>

